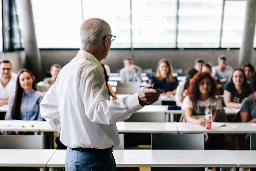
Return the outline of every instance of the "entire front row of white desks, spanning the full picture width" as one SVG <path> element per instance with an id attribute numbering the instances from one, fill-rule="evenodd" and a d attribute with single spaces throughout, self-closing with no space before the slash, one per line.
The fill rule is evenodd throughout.
<path id="1" fill-rule="evenodd" d="M 65 167 L 66 150 L 0 149 L 0 154 L 2 167 Z M 117 167 L 256 167 L 256 151 L 117 149 L 113 155 Z"/>

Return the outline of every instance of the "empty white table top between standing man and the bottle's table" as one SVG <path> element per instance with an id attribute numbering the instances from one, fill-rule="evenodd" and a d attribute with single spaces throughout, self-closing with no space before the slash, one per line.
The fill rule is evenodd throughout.
<path id="1" fill-rule="evenodd" d="M 175 122 L 117 122 L 119 133 L 178 133 Z"/>

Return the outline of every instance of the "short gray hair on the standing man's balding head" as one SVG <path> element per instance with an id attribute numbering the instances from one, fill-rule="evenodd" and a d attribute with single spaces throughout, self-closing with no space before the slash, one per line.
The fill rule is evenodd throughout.
<path id="1" fill-rule="evenodd" d="M 110 25 L 105 20 L 100 18 L 87 19 L 80 27 L 81 48 L 97 45 L 102 37 L 110 33 Z"/>

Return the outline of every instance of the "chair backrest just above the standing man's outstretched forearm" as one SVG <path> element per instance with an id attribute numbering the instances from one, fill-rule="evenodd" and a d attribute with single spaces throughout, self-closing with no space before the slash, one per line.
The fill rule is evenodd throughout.
<path id="1" fill-rule="evenodd" d="M 134 94 L 140 91 L 140 82 L 117 82 L 116 94 Z"/>

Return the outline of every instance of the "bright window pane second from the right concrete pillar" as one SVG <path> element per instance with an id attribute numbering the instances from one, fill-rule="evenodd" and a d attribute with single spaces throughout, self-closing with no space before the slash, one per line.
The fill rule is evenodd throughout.
<path id="1" fill-rule="evenodd" d="M 178 48 L 218 48 L 222 0 L 180 0 Z"/>

